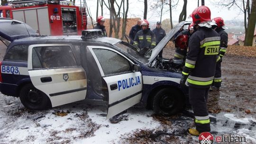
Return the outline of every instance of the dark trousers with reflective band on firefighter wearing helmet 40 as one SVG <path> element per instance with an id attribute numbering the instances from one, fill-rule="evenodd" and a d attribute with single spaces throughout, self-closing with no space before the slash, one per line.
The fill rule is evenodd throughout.
<path id="1" fill-rule="evenodd" d="M 209 88 L 189 87 L 189 102 L 192 105 L 195 116 L 196 130 L 210 132 L 210 118 L 206 106 Z"/>

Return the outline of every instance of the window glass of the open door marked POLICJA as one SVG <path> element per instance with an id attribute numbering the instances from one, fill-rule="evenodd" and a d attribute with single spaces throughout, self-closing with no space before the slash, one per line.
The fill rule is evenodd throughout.
<path id="1" fill-rule="evenodd" d="M 107 49 L 93 49 L 93 52 L 105 75 L 132 71 L 130 62 L 120 54 Z"/>

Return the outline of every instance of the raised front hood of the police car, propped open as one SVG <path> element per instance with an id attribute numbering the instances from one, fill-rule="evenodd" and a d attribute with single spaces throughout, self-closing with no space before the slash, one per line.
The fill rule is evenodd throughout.
<path id="1" fill-rule="evenodd" d="M 152 54 L 148 60 L 148 63 L 152 63 L 156 56 L 162 51 L 165 45 L 173 38 L 173 36 L 181 29 L 183 25 L 189 25 L 191 22 L 182 21 L 176 25 L 152 50 Z"/>

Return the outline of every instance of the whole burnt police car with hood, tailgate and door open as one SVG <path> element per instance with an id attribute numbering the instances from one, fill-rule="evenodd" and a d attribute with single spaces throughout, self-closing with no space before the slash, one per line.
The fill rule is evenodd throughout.
<path id="1" fill-rule="evenodd" d="M 37 36 L 23 22 L 0 19 L 0 36 L 11 42 L 0 62 L 0 91 L 33 110 L 95 99 L 108 105 L 107 118 L 136 104 L 173 115 L 184 108 L 188 90 L 179 85 L 181 72 L 156 57 L 184 24 L 148 59 L 119 39 L 92 38 L 93 30 L 82 37 Z"/>

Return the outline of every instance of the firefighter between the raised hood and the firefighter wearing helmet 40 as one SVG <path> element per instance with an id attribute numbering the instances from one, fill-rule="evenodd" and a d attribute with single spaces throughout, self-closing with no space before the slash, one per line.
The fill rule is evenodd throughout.
<path id="1" fill-rule="evenodd" d="M 193 26 L 194 26 L 194 23 L 192 22 L 192 23 L 189 25 L 188 29 L 181 31 L 181 32 L 178 34 L 178 36 L 176 37 L 176 39 L 175 39 L 175 48 L 176 48 L 176 49 L 175 49 L 175 53 L 174 53 L 174 60 L 185 60 L 186 55 L 187 55 L 187 47 L 185 47 L 185 48 L 180 48 L 179 45 L 181 44 L 181 39 L 178 39 L 178 40 L 177 40 L 177 38 L 178 38 L 179 36 L 181 36 L 181 35 L 186 35 L 186 36 L 188 36 L 188 39 L 187 39 L 187 42 L 188 42 L 190 36 L 191 36 L 191 35 L 193 34 L 193 32 L 194 32 Z M 185 39 L 184 39 L 184 40 L 185 40 Z"/>

